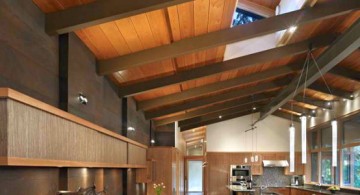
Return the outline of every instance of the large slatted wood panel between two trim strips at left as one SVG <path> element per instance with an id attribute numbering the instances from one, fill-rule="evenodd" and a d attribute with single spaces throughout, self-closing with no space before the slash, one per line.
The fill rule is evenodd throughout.
<path id="1" fill-rule="evenodd" d="M 127 143 L 7 100 L 8 156 L 127 164 Z"/>

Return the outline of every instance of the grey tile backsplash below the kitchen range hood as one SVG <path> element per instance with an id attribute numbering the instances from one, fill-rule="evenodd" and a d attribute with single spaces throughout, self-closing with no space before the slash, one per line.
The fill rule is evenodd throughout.
<path id="1" fill-rule="evenodd" d="M 263 175 L 253 176 L 253 180 L 258 187 L 282 187 L 290 185 L 291 176 L 285 175 L 282 167 L 264 167 Z"/>

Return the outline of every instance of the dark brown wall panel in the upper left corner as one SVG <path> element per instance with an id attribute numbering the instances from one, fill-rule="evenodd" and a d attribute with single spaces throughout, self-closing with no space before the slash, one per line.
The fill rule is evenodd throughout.
<path id="1" fill-rule="evenodd" d="M 45 15 L 32 1 L 0 6 L 0 87 L 58 104 L 58 39 L 44 31 Z"/>

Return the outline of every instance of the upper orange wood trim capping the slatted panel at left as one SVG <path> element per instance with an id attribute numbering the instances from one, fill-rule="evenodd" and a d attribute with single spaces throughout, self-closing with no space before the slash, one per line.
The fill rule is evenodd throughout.
<path id="1" fill-rule="evenodd" d="M 82 119 L 82 118 L 80 118 L 78 116 L 75 116 L 75 115 L 70 114 L 68 112 L 65 112 L 63 110 L 60 110 L 60 109 L 58 109 L 58 108 L 56 108 L 54 106 L 51 106 L 51 105 L 46 104 L 44 102 L 41 102 L 41 101 L 39 101 L 37 99 L 34 99 L 34 98 L 30 97 L 30 96 L 22 94 L 22 93 L 20 93 L 18 91 L 15 91 L 13 89 L 0 88 L 0 98 L 5 98 L 5 99 L 9 98 L 9 99 L 24 103 L 26 105 L 29 105 L 29 106 L 32 106 L 34 108 L 43 110 L 45 112 L 56 115 L 56 116 L 61 117 L 63 119 L 66 119 L 66 120 L 72 121 L 74 123 L 77 123 L 77 124 L 82 125 L 84 127 L 91 128 L 91 129 L 93 129 L 95 131 L 98 131 L 100 133 L 103 133 L 105 135 L 108 135 L 108 136 L 114 137 L 116 139 L 125 141 L 125 142 L 127 142 L 129 144 L 133 144 L 133 145 L 145 148 L 145 149 L 148 148 L 148 146 L 146 146 L 144 144 L 138 143 L 138 142 L 133 141 L 133 140 L 127 138 L 127 137 L 121 136 L 121 135 L 119 135 L 117 133 L 114 133 L 113 131 L 105 129 L 105 128 L 99 126 L 99 125 L 91 123 L 91 122 L 89 122 L 89 121 L 87 121 L 85 119 Z"/>

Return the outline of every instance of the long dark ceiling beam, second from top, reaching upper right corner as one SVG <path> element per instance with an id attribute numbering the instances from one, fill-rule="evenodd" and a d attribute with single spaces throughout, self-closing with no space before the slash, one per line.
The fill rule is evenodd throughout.
<path id="1" fill-rule="evenodd" d="M 212 47 L 248 40 L 287 29 L 292 25 L 300 26 L 325 18 L 346 14 L 358 8 L 360 8 L 360 2 L 358 0 L 347 0 L 346 3 L 344 3 L 343 0 L 330 0 L 326 3 L 316 4 L 314 7 L 281 14 L 246 25 L 183 39 L 169 45 L 108 60 L 101 60 L 98 62 L 98 73 L 100 75 L 111 74 L 143 64 L 154 63 Z"/>

